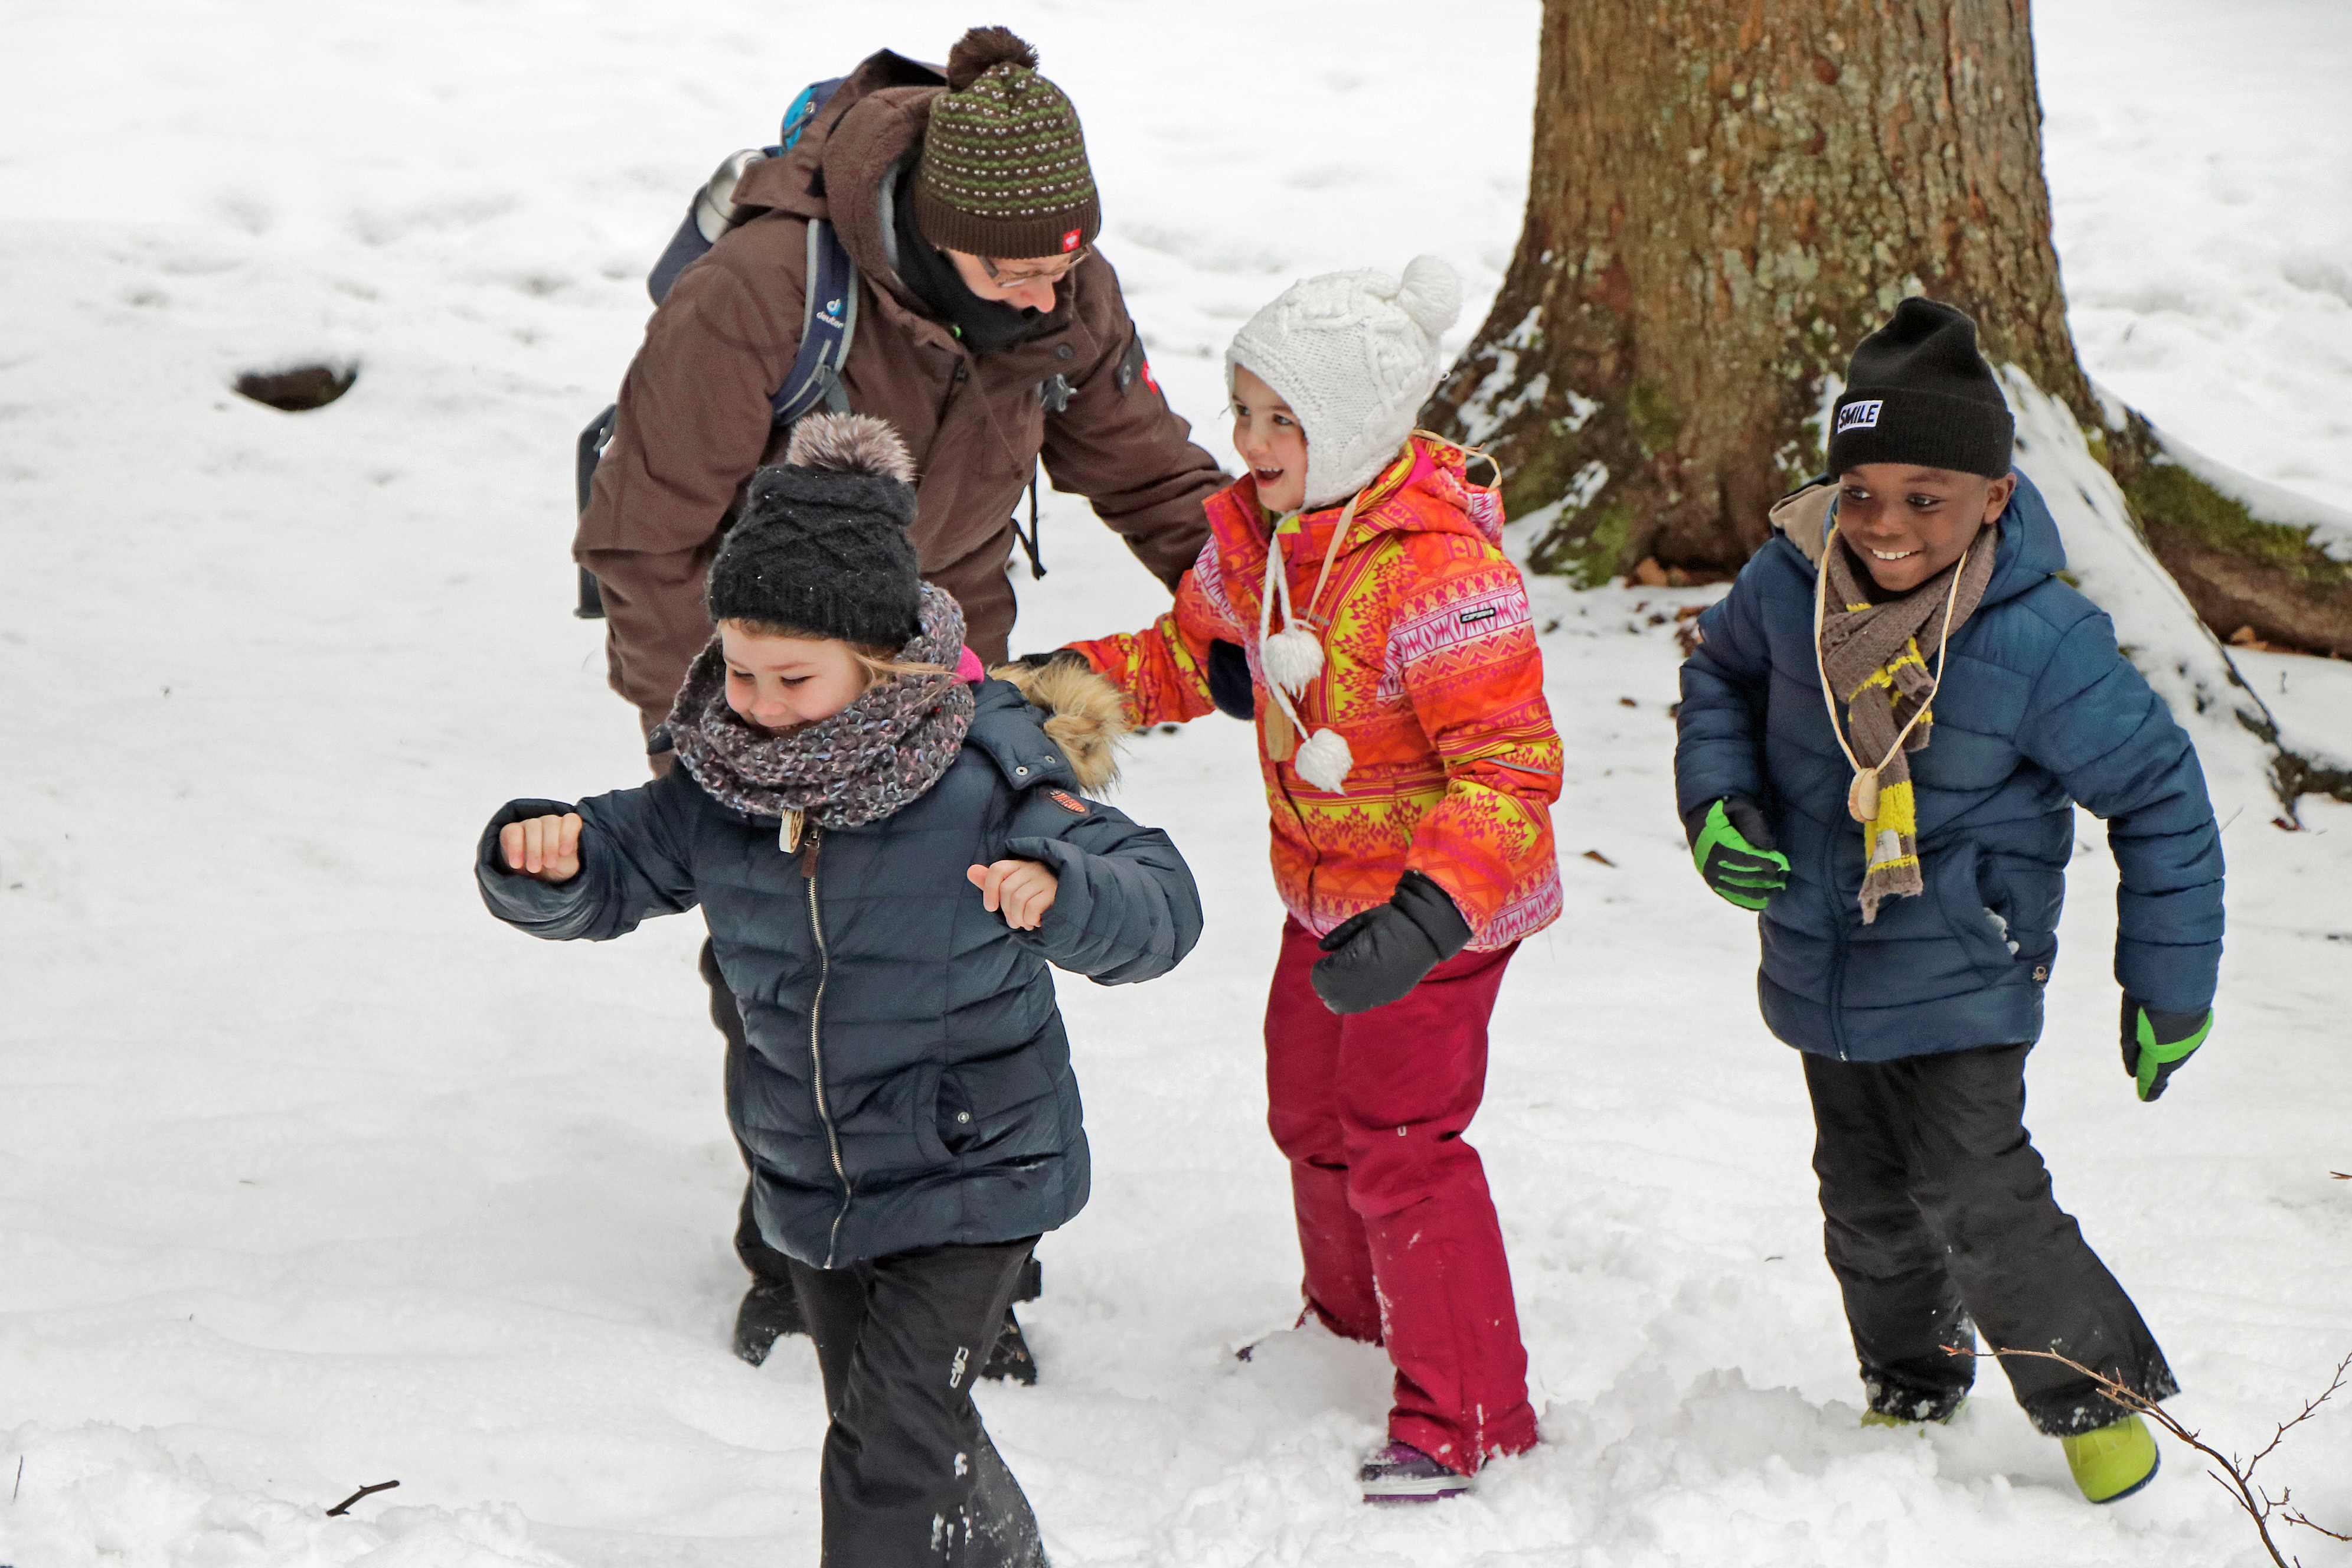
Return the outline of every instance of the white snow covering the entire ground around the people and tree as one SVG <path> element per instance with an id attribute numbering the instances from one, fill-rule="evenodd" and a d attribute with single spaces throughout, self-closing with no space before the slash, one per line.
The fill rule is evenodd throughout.
<path id="1" fill-rule="evenodd" d="M 569 444 L 720 153 L 943 0 L 19 7 L 0 61 L 0 1559 L 767 1566 L 814 1556 L 816 1368 L 727 1354 L 739 1168 L 699 929 L 496 929 L 468 856 L 517 792 L 640 762 L 572 621 Z M 1181 24 L 1171 16 L 1181 14 Z M 1087 113 L 1105 249 L 1178 407 L 1298 273 L 1517 233 L 1534 0 L 1025 0 Z M 2180 440 L 2352 501 L 2352 254 L 2319 0 L 2044 0 L 2058 242 L 2093 374 Z M 1251 96 L 1272 85 L 1270 92 Z M 1475 324 L 1472 308 L 1463 334 Z M 226 381 L 343 355 L 285 416 Z M 1157 590 L 1049 503 L 1018 646 Z M 1538 583 L 1569 738 L 1569 917 L 1503 994 L 1475 1140 L 1545 1443 L 1374 1514 L 1371 1352 L 1282 1335 L 1296 1248 L 1256 1013 L 1279 919 L 1247 731 L 1134 750 L 1122 804 L 1209 900 L 1150 990 L 1065 987 L 1094 1206 L 1044 1246 L 1037 1389 L 983 1392 L 1063 1566 L 2253 1561 L 2180 1450 L 2112 1509 L 1987 1378 L 1863 1432 L 1795 1063 L 1755 938 L 1691 877 L 1672 609 Z M 2340 668 L 2241 668 L 2352 738 Z M 2272 691 L 2279 686 L 2279 691 Z M 2032 1070 L 2060 1199 L 2187 1394 L 2253 1446 L 2352 1349 L 2352 809 L 2239 813 L 2220 1030 L 2131 1100 L 2112 870 L 2084 825 Z M 1588 858 L 1585 851 L 1602 858 Z M 21 1469 L 19 1469 L 21 1460 Z M 2272 1460 L 2352 1521 L 2352 1406 Z M 2270 1474 L 2270 1472 L 2265 1472 Z M 346 1519 L 372 1481 L 400 1490 Z M 2307 1537 L 2305 1563 L 2347 1561 Z"/>

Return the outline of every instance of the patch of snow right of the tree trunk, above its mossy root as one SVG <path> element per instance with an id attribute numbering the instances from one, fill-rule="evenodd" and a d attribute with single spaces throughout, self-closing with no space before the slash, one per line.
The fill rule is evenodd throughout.
<path id="1" fill-rule="evenodd" d="M 2034 12 L 2084 364 L 2169 437 L 2336 508 L 2352 550 L 2352 7 Z"/>

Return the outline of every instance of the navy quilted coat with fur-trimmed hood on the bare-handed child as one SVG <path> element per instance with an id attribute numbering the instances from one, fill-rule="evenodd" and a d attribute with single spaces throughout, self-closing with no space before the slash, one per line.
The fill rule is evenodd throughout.
<path id="1" fill-rule="evenodd" d="M 727 1114 L 753 1157 L 767 1241 L 842 1267 L 915 1246 L 1011 1241 L 1087 1204 L 1087 1133 L 1047 964 L 1101 983 L 1167 973 L 1200 940 L 1200 893 L 1157 827 L 1077 795 L 1042 712 L 978 689 L 962 755 L 915 804 L 811 830 L 703 795 L 684 769 L 635 788 L 508 804 L 475 875 L 532 936 L 607 940 L 701 905 L 750 1060 Z M 581 872 L 506 872 L 499 827 L 576 809 Z M 1000 858 L 1061 879 L 1014 931 L 964 879 Z"/>

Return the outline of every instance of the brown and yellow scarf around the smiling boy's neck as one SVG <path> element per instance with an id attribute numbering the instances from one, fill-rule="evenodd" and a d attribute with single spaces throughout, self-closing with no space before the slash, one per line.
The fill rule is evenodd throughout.
<path id="1" fill-rule="evenodd" d="M 1879 917 L 1882 900 L 1926 891 L 1919 875 L 1919 811 L 1905 755 L 1926 750 L 1936 724 L 1936 715 L 1924 712 L 1936 677 L 1929 675 L 1919 637 L 1926 635 L 1943 651 L 1947 607 L 1950 630 L 1976 614 L 1985 583 L 1992 581 L 1997 543 L 1999 527 L 1985 524 L 1966 557 L 1884 604 L 1872 604 L 1863 592 L 1842 538 L 1832 534 L 1830 548 L 1820 552 L 1820 592 L 1828 595 L 1820 607 L 1820 675 L 1832 717 L 1839 703 L 1846 705 L 1846 736 L 1858 766 L 1877 769 L 1877 790 L 1863 785 L 1849 799 L 1863 823 L 1865 926 Z M 1919 715 L 1917 724 L 1912 715 Z M 1905 724 L 1912 724 L 1907 736 Z M 1896 745 L 1896 736 L 1903 736 L 1903 745 Z"/>

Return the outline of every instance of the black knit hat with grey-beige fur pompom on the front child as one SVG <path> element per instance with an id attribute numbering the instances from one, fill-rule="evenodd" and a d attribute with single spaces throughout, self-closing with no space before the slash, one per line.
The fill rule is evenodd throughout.
<path id="1" fill-rule="evenodd" d="M 750 477 L 710 562 L 710 621 L 898 651 L 922 625 L 913 522 L 915 463 L 898 433 L 870 414 L 809 414 L 783 463 Z"/>

